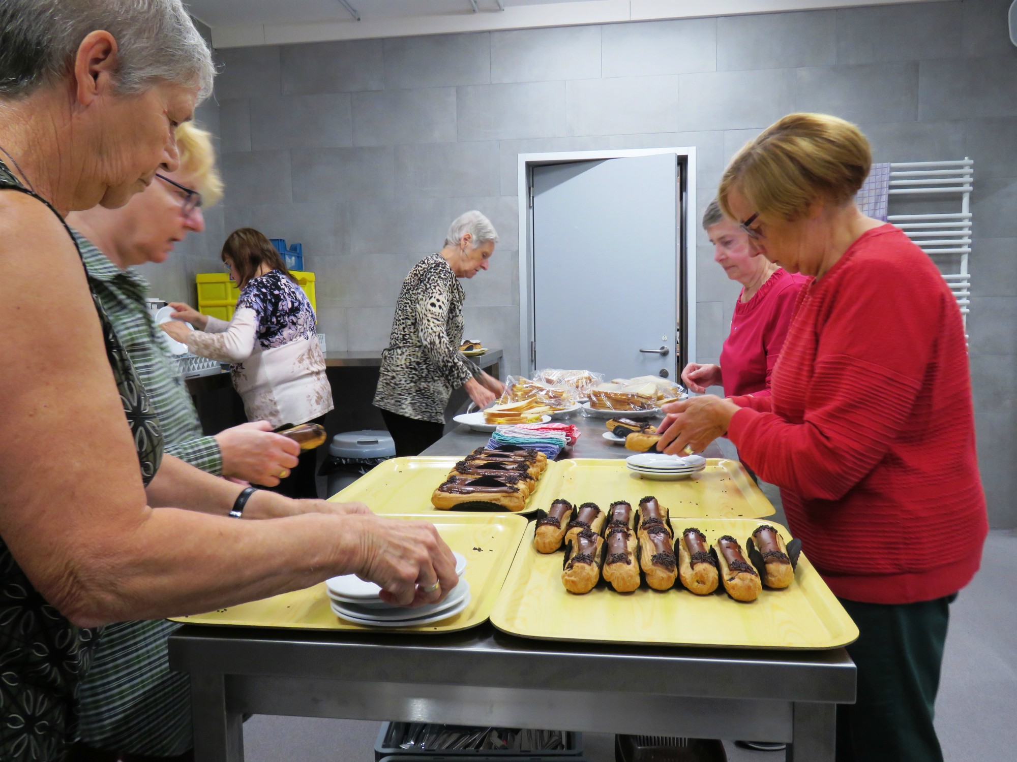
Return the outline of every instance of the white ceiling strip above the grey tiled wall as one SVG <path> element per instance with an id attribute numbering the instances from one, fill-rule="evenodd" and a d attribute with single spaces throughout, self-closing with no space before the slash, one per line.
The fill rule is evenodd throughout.
<path id="1" fill-rule="evenodd" d="M 937 0 L 184 0 L 217 48 Z"/>

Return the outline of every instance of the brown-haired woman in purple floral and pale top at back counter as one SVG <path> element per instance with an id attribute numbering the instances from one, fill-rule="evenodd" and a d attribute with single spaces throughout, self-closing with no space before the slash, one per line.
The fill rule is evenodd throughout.
<path id="1" fill-rule="evenodd" d="M 317 341 L 314 310 L 272 242 L 253 228 L 230 234 L 223 264 L 240 287 L 233 320 L 203 315 L 180 302 L 170 304 L 177 320 L 163 330 L 194 355 L 233 364 L 233 385 L 244 400 L 248 421 L 274 429 L 324 422 L 333 408 L 324 356 Z M 317 496 L 315 452 L 282 468 L 275 489 L 295 498 Z"/>

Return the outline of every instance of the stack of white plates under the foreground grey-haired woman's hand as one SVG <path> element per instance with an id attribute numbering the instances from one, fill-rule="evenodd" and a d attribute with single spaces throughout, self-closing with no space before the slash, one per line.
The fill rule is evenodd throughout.
<path id="1" fill-rule="evenodd" d="M 454 555 L 459 584 L 439 604 L 425 604 L 416 609 L 393 606 L 380 598 L 381 588 L 376 584 L 346 574 L 325 581 L 332 611 L 347 622 L 371 627 L 415 627 L 455 617 L 470 605 L 470 583 L 463 577 L 466 557 L 460 553 Z"/>

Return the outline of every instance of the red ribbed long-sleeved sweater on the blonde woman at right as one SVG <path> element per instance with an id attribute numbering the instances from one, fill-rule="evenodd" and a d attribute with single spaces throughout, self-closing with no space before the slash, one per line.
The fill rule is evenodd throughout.
<path id="1" fill-rule="evenodd" d="M 858 238 L 802 289 L 771 390 L 728 436 L 835 594 L 910 604 L 970 581 L 989 524 L 964 328 L 924 252 L 891 225 Z"/>

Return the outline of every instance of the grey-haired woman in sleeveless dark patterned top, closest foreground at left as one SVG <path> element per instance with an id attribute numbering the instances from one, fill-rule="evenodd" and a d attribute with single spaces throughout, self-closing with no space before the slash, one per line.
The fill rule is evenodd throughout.
<path id="1" fill-rule="evenodd" d="M 60 760 L 111 622 L 354 573 L 402 604 L 458 581 L 432 524 L 254 491 L 164 454 L 72 210 L 175 173 L 213 80 L 180 0 L 0 3 L 0 759 Z M 40 273 L 45 273 L 41 277 Z M 262 520 L 257 520 L 262 519 Z"/>

